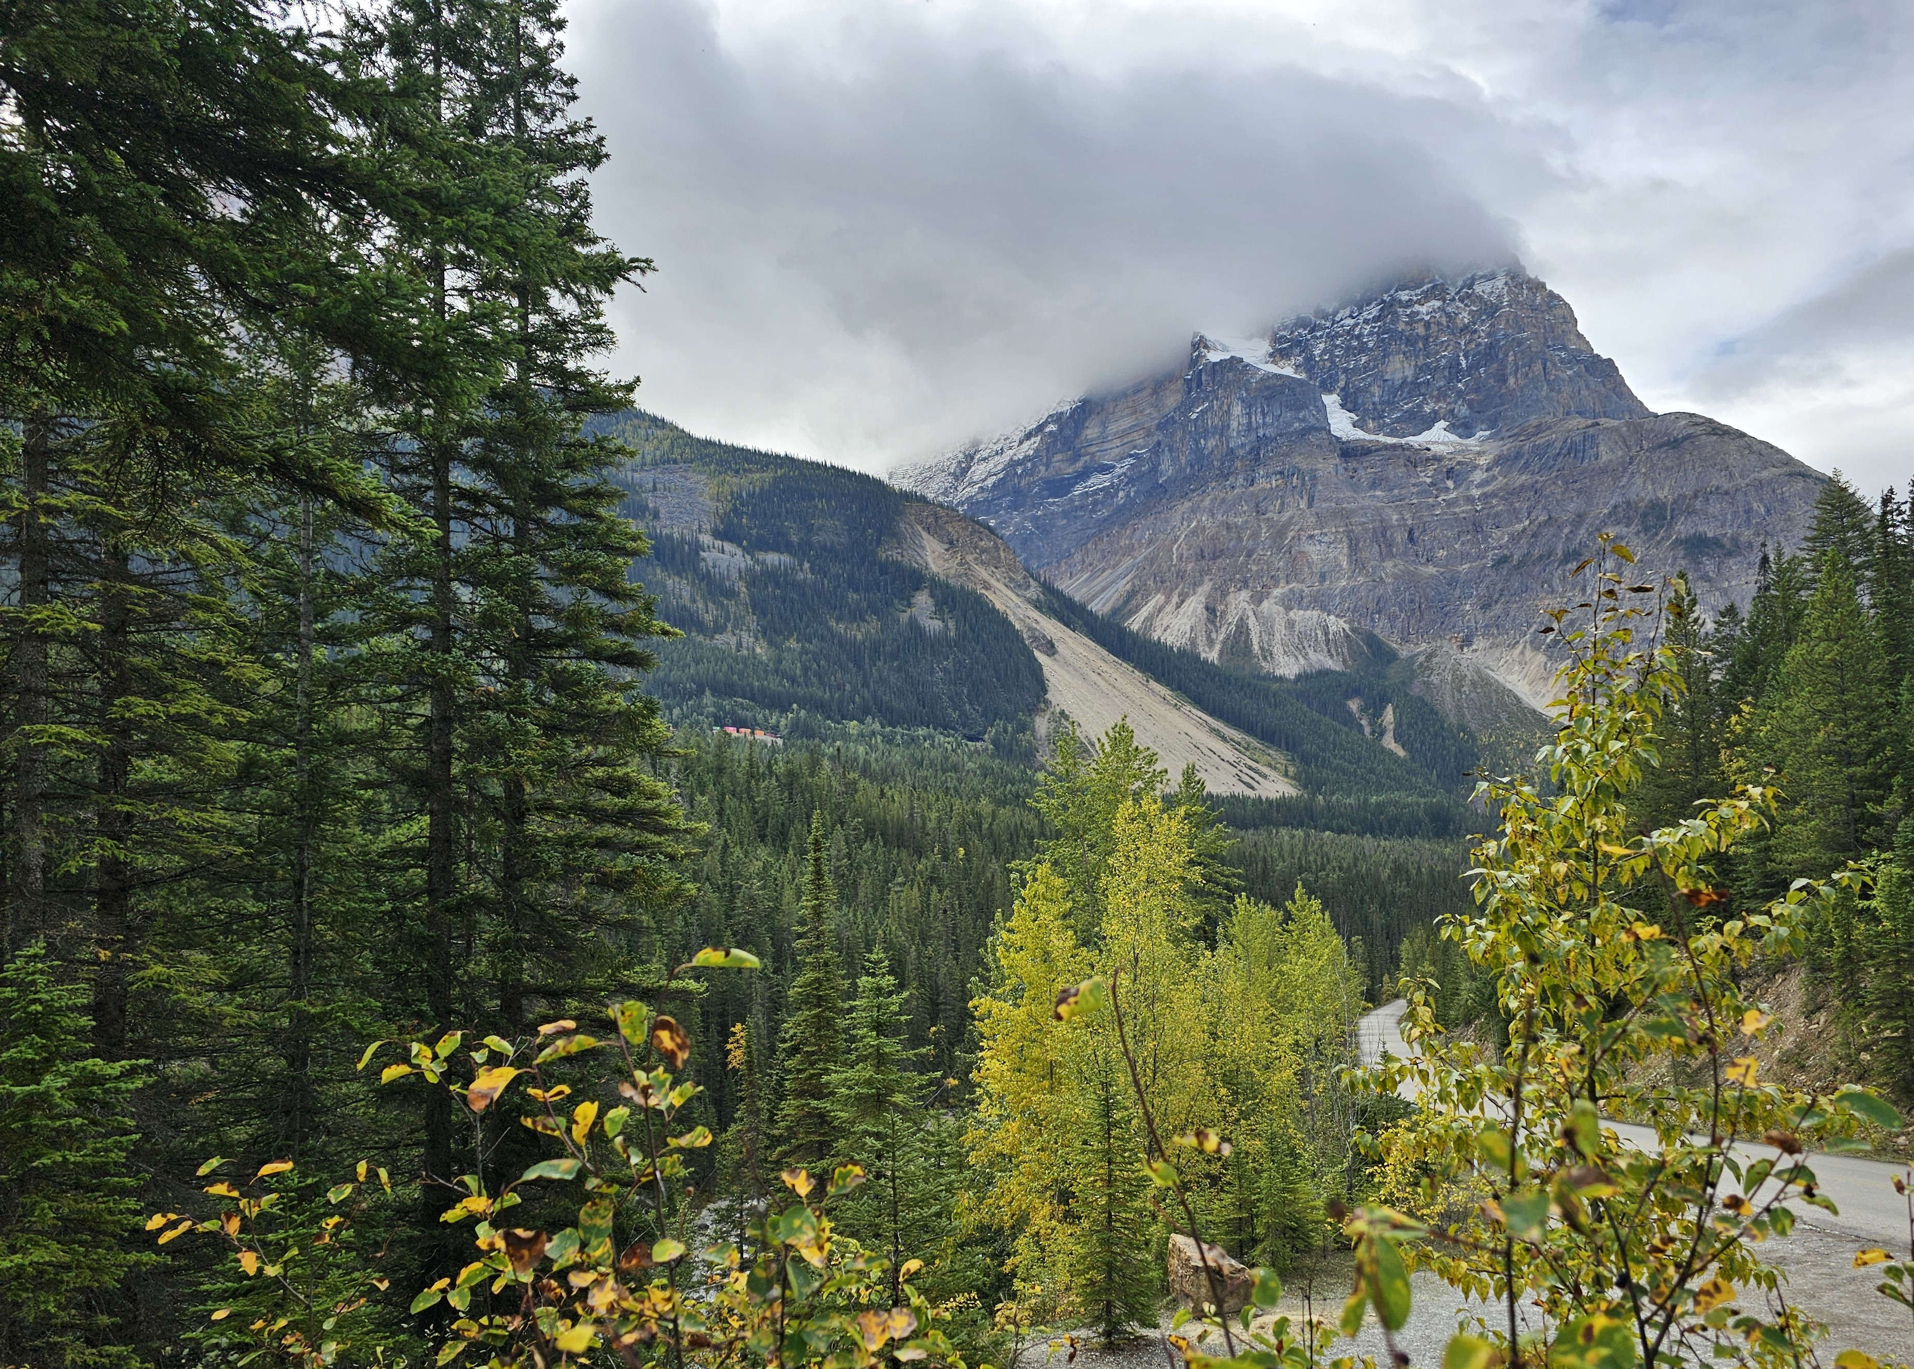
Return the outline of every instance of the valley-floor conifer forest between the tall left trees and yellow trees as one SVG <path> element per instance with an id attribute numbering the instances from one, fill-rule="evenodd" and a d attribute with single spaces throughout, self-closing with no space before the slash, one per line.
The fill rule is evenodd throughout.
<path id="1" fill-rule="evenodd" d="M 938 1076 L 967 1073 L 970 979 L 1011 906 L 1007 866 L 1041 834 L 1030 769 L 947 736 L 873 728 L 783 746 L 685 732 L 681 744 L 676 786 L 708 832 L 674 946 L 739 945 L 766 962 L 750 981 L 712 985 L 699 1055 L 716 1061 L 731 1023 L 748 1023 L 754 1042 L 779 1038 L 812 816 L 823 815 L 840 960 L 884 950 L 907 994 L 909 1046 L 930 1048 Z M 729 1124 L 737 1080 L 712 1071 L 701 1082 Z"/>

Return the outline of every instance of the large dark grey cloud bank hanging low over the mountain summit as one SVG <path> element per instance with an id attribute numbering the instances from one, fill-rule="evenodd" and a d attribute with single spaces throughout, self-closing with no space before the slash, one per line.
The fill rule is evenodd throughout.
<path id="1" fill-rule="evenodd" d="M 1060 61 L 1014 23 L 829 61 L 689 0 L 586 8 L 599 218 L 657 258 L 620 367 L 693 430 L 884 468 L 1407 266 L 1520 243 L 1458 166 L 1548 180 L 1466 90 Z"/>

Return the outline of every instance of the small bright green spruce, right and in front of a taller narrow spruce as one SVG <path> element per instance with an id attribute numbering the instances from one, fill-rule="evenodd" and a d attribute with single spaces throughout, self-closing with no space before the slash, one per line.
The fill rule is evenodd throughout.
<path id="1" fill-rule="evenodd" d="M 930 1237 L 921 1143 L 928 1080 L 915 1069 L 928 1050 L 905 1044 L 911 1017 L 903 998 L 890 958 L 882 948 L 869 950 L 846 1019 L 844 1061 L 829 1076 L 842 1157 L 865 1170 L 865 1185 L 840 1224 L 890 1256 L 892 1306 L 901 1300 L 898 1271 Z"/>

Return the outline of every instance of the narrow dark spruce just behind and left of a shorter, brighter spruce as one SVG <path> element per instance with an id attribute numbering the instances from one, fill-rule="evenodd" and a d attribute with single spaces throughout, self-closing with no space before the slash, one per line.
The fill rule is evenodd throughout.
<path id="1" fill-rule="evenodd" d="M 813 813 L 798 910 L 798 973 L 779 1031 L 785 1096 L 777 1111 L 777 1153 L 787 1164 L 823 1164 L 842 1149 L 831 1109 L 831 1075 L 844 1055 L 844 975 L 831 925 L 835 912 L 825 818 Z"/>

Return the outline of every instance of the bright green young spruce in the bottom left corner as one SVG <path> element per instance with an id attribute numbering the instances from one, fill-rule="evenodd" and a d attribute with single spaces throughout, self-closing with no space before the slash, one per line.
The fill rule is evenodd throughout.
<path id="1" fill-rule="evenodd" d="M 0 967 L 0 1361 L 134 1363 L 101 1294 L 153 1264 L 134 1254 L 140 1180 L 128 1099 L 138 1065 L 90 1048 L 86 990 L 38 945 Z"/>

